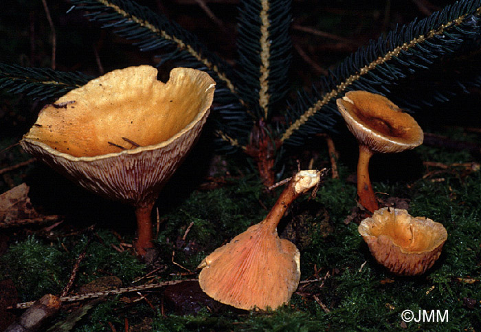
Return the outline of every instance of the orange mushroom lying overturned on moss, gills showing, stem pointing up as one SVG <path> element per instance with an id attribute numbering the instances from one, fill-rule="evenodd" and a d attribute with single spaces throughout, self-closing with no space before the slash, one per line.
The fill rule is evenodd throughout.
<path id="1" fill-rule="evenodd" d="M 203 259 L 199 283 L 208 296 L 240 309 L 276 309 L 287 303 L 300 279 L 300 253 L 280 239 L 277 225 L 289 205 L 320 182 L 320 171 L 300 171 L 265 220 L 247 228 Z"/>

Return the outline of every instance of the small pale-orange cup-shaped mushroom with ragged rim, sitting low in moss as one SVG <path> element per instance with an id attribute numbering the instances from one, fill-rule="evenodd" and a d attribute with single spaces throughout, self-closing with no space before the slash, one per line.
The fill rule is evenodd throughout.
<path id="1" fill-rule="evenodd" d="M 374 258 L 395 274 L 423 274 L 438 259 L 447 239 L 443 224 L 383 208 L 359 225 Z"/>

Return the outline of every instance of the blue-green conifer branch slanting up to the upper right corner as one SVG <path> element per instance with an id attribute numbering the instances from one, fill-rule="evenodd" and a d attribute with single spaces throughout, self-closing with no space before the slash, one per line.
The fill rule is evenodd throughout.
<path id="1" fill-rule="evenodd" d="M 300 144 L 307 135 L 332 127 L 337 112 L 333 106 L 335 99 L 347 91 L 389 92 L 385 87 L 388 84 L 427 69 L 434 60 L 453 53 L 466 40 L 479 37 L 480 15 L 480 0 L 459 1 L 359 49 L 324 78 L 322 93 L 314 97 L 305 92 L 299 94 L 298 104 L 288 112 L 291 124 L 284 130 L 281 141 Z"/>

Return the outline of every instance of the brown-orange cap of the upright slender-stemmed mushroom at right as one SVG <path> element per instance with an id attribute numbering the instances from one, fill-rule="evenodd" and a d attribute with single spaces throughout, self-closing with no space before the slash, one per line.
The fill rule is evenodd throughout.
<path id="1" fill-rule="evenodd" d="M 388 98 L 367 91 L 350 91 L 337 108 L 359 143 L 381 153 L 401 152 L 423 143 L 416 120 Z"/>

